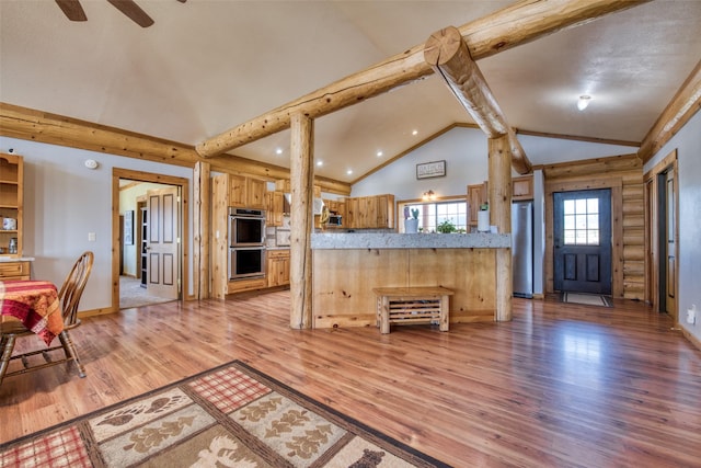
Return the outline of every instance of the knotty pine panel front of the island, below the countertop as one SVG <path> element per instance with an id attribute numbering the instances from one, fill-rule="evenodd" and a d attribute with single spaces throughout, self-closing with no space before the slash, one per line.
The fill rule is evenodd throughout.
<path id="1" fill-rule="evenodd" d="M 375 287 L 447 287 L 451 323 L 494 321 L 497 250 L 313 250 L 313 328 L 375 327 Z"/>

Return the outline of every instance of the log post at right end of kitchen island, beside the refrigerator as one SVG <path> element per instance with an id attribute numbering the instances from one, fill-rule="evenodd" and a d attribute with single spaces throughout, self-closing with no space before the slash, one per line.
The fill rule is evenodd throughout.
<path id="1" fill-rule="evenodd" d="M 512 232 L 512 168 L 510 146 L 507 136 L 490 138 L 490 224 L 499 232 Z M 512 320 L 514 273 L 512 249 L 496 249 L 496 312 L 494 320 Z"/>

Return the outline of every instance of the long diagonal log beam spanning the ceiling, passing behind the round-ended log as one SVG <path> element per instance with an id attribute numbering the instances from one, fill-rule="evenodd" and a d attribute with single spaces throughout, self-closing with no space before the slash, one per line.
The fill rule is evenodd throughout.
<path id="1" fill-rule="evenodd" d="M 646 1 L 648 0 L 522 0 L 464 24 L 459 30 L 470 55 L 479 60 Z M 317 118 L 420 80 L 433 73 L 423 53 L 424 44 L 412 47 L 209 138 L 198 144 L 196 150 L 203 157 L 221 155 L 289 128 L 292 114 L 301 113 Z"/>

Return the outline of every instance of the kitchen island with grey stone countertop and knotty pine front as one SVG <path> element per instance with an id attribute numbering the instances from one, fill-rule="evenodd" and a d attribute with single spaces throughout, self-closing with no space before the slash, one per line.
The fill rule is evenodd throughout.
<path id="1" fill-rule="evenodd" d="M 375 327 L 377 287 L 441 286 L 450 322 L 494 321 L 498 233 L 313 233 L 313 328 Z"/>

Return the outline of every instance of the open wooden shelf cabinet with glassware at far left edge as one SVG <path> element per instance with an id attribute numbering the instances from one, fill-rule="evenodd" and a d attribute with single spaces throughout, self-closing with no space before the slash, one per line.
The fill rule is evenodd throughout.
<path id="1" fill-rule="evenodd" d="M 24 160 L 0 153 L 0 256 L 22 256 Z"/>

